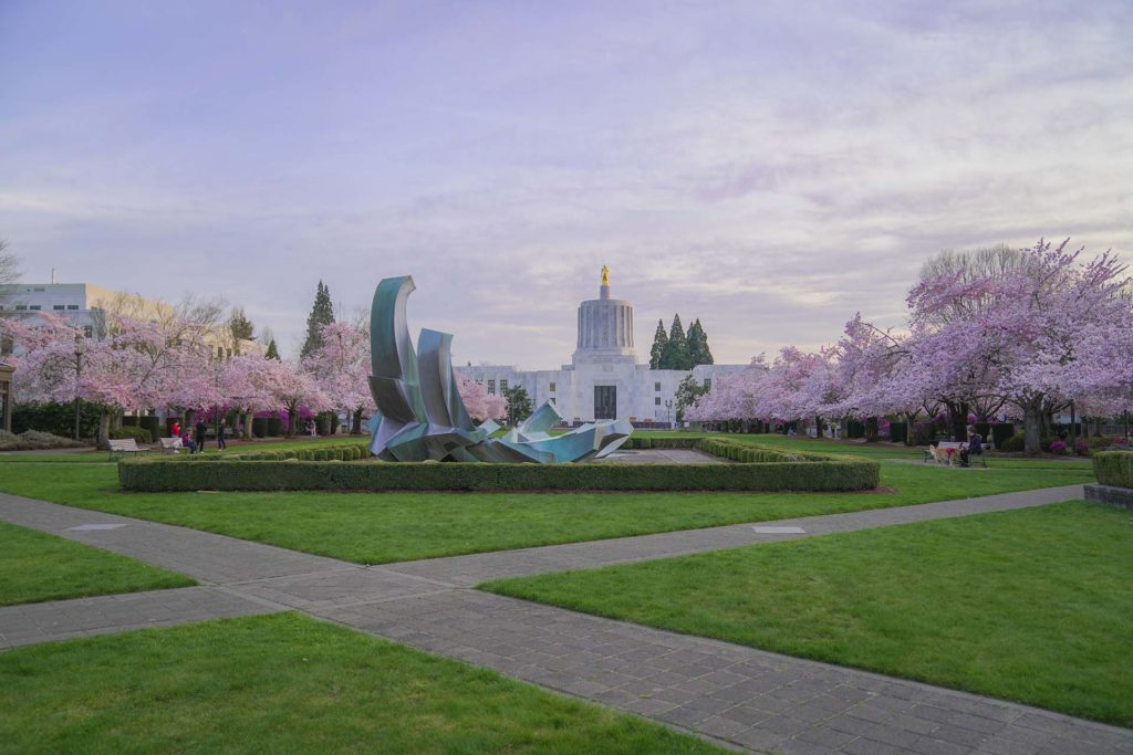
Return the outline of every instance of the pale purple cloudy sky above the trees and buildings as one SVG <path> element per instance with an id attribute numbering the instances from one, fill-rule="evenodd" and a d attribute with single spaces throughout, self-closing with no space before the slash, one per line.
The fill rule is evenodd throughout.
<path id="1" fill-rule="evenodd" d="M 1133 258 L 1133 3 L 0 0 L 25 280 L 221 294 L 297 350 L 410 274 L 459 361 L 552 368 L 612 269 L 639 354 L 900 324 L 921 263 Z"/>

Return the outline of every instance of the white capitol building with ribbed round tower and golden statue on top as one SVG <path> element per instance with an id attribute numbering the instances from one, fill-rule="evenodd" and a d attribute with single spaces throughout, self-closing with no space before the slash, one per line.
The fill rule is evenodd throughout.
<path id="1" fill-rule="evenodd" d="M 667 424 L 676 419 L 676 387 L 688 375 L 700 385 L 738 372 L 743 364 L 700 364 L 692 370 L 655 370 L 638 362 L 633 346 L 633 304 L 610 295 L 603 269 L 598 298 L 578 306 L 578 341 L 570 364 L 557 370 L 517 370 L 513 366 L 454 367 L 500 395 L 523 386 L 534 406 L 554 400 L 568 423 L 628 419 Z"/>

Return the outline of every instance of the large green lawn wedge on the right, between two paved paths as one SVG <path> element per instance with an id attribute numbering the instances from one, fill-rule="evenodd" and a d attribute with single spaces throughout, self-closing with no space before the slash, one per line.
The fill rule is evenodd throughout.
<path id="1" fill-rule="evenodd" d="M 1133 513 L 1084 503 L 484 585 L 1133 726 Z"/>

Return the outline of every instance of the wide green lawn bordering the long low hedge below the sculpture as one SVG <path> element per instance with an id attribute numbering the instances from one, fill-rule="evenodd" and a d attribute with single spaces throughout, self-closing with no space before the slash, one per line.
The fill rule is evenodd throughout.
<path id="1" fill-rule="evenodd" d="M 864 494 L 123 494 L 113 464 L 6 463 L 0 490 L 363 564 L 834 514 L 1082 483 L 1089 470 L 885 462 Z M 893 491 L 892 489 L 895 489 Z"/>

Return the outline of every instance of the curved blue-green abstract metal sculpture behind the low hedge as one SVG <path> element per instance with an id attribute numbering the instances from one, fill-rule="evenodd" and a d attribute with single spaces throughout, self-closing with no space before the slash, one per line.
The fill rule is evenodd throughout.
<path id="1" fill-rule="evenodd" d="M 381 415 L 369 449 L 385 461 L 421 462 L 582 462 L 605 456 L 633 432 L 625 420 L 583 424 L 570 432 L 547 432 L 562 415 L 553 401 L 539 406 L 502 438 L 487 420 L 479 427 L 465 409 L 452 371 L 452 336 L 423 329 L 414 352 L 406 301 L 416 290 L 408 275 L 384 278 L 369 314 L 369 391 Z"/>

